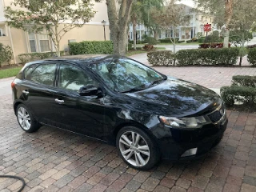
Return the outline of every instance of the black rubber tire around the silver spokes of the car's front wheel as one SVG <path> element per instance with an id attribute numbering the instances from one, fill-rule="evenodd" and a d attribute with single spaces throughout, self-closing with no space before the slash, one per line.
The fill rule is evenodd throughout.
<path id="1" fill-rule="evenodd" d="M 141 136 L 140 142 L 143 142 L 143 144 L 142 144 L 143 146 L 145 146 L 145 145 L 148 146 L 149 154 L 150 154 L 149 156 L 145 155 L 143 153 L 140 153 L 139 152 L 140 150 L 136 150 L 136 149 L 139 149 L 139 148 L 133 148 L 132 149 L 132 148 L 129 148 L 129 146 L 120 142 L 120 138 L 122 137 L 122 135 L 127 136 L 127 137 L 132 137 L 131 132 L 134 132 L 135 135 L 139 134 Z M 153 166 L 155 166 L 158 163 L 158 161 L 160 159 L 160 154 L 158 152 L 159 151 L 158 146 L 157 146 L 156 142 L 154 142 L 154 139 L 151 138 L 150 135 L 147 134 L 145 130 L 142 130 L 141 128 L 138 128 L 138 127 L 125 126 L 121 130 L 119 130 L 117 138 L 116 138 L 116 146 L 118 148 L 118 153 L 121 156 L 122 160 L 124 162 L 126 162 L 126 164 L 128 166 L 133 167 L 134 169 L 137 169 L 137 170 L 150 170 Z M 127 146 L 127 148 L 123 148 L 123 146 Z M 138 144 L 138 147 L 139 146 L 140 146 L 140 144 Z M 136 146 L 132 146 L 132 147 L 136 147 Z M 133 154 L 130 158 L 130 161 L 132 161 L 133 164 L 131 164 L 129 161 L 127 161 L 126 158 L 124 158 L 124 156 L 122 155 L 122 151 L 124 152 L 125 150 L 130 150 L 130 149 L 133 150 L 133 152 L 132 152 Z M 135 159 L 135 156 L 138 155 L 138 153 L 141 155 L 141 157 L 144 156 L 145 159 L 146 159 L 146 161 L 145 161 L 146 164 L 144 166 L 134 165 L 135 162 L 133 160 Z M 129 154 L 127 156 L 129 156 Z"/>

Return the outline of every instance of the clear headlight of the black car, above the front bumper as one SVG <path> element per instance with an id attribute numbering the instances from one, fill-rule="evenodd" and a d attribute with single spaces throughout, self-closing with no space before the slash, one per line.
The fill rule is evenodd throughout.
<path id="1" fill-rule="evenodd" d="M 196 118 L 169 118 L 159 116 L 161 122 L 167 126 L 174 126 L 179 128 L 201 128 L 203 125 L 210 123 L 203 116 Z"/>

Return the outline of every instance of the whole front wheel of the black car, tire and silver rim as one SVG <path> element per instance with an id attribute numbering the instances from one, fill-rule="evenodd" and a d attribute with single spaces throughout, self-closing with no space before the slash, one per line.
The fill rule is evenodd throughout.
<path id="1" fill-rule="evenodd" d="M 142 129 L 123 127 L 117 137 L 118 152 L 124 162 L 138 170 L 149 170 L 159 160 L 155 142 Z"/>

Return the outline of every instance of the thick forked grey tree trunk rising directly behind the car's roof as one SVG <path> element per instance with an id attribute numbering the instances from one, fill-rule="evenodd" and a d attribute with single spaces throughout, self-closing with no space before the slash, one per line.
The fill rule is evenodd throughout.
<path id="1" fill-rule="evenodd" d="M 126 55 L 127 25 L 130 18 L 132 0 L 122 0 L 119 12 L 115 0 L 106 0 L 110 21 L 110 36 L 114 45 L 114 54 Z"/>

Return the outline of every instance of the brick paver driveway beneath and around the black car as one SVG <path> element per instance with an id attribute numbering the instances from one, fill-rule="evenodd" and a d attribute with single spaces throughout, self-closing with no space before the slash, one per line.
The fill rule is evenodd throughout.
<path id="1" fill-rule="evenodd" d="M 230 69 L 221 73 L 238 74 Z M 209 76 L 220 71 L 162 70 L 170 70 L 173 76 L 183 73 L 182 78 L 194 78 L 208 87 L 214 87 L 210 79 L 200 77 L 206 77 L 206 71 Z M 137 171 L 122 162 L 113 146 L 46 126 L 26 134 L 18 126 L 11 103 L 10 94 L 0 94 L 0 174 L 25 178 L 24 191 L 256 191 L 256 114 L 229 111 L 222 142 L 204 158 L 160 162 L 153 170 Z M 0 178 L 0 191 L 17 191 L 19 186 L 21 182 L 14 179 Z"/>

